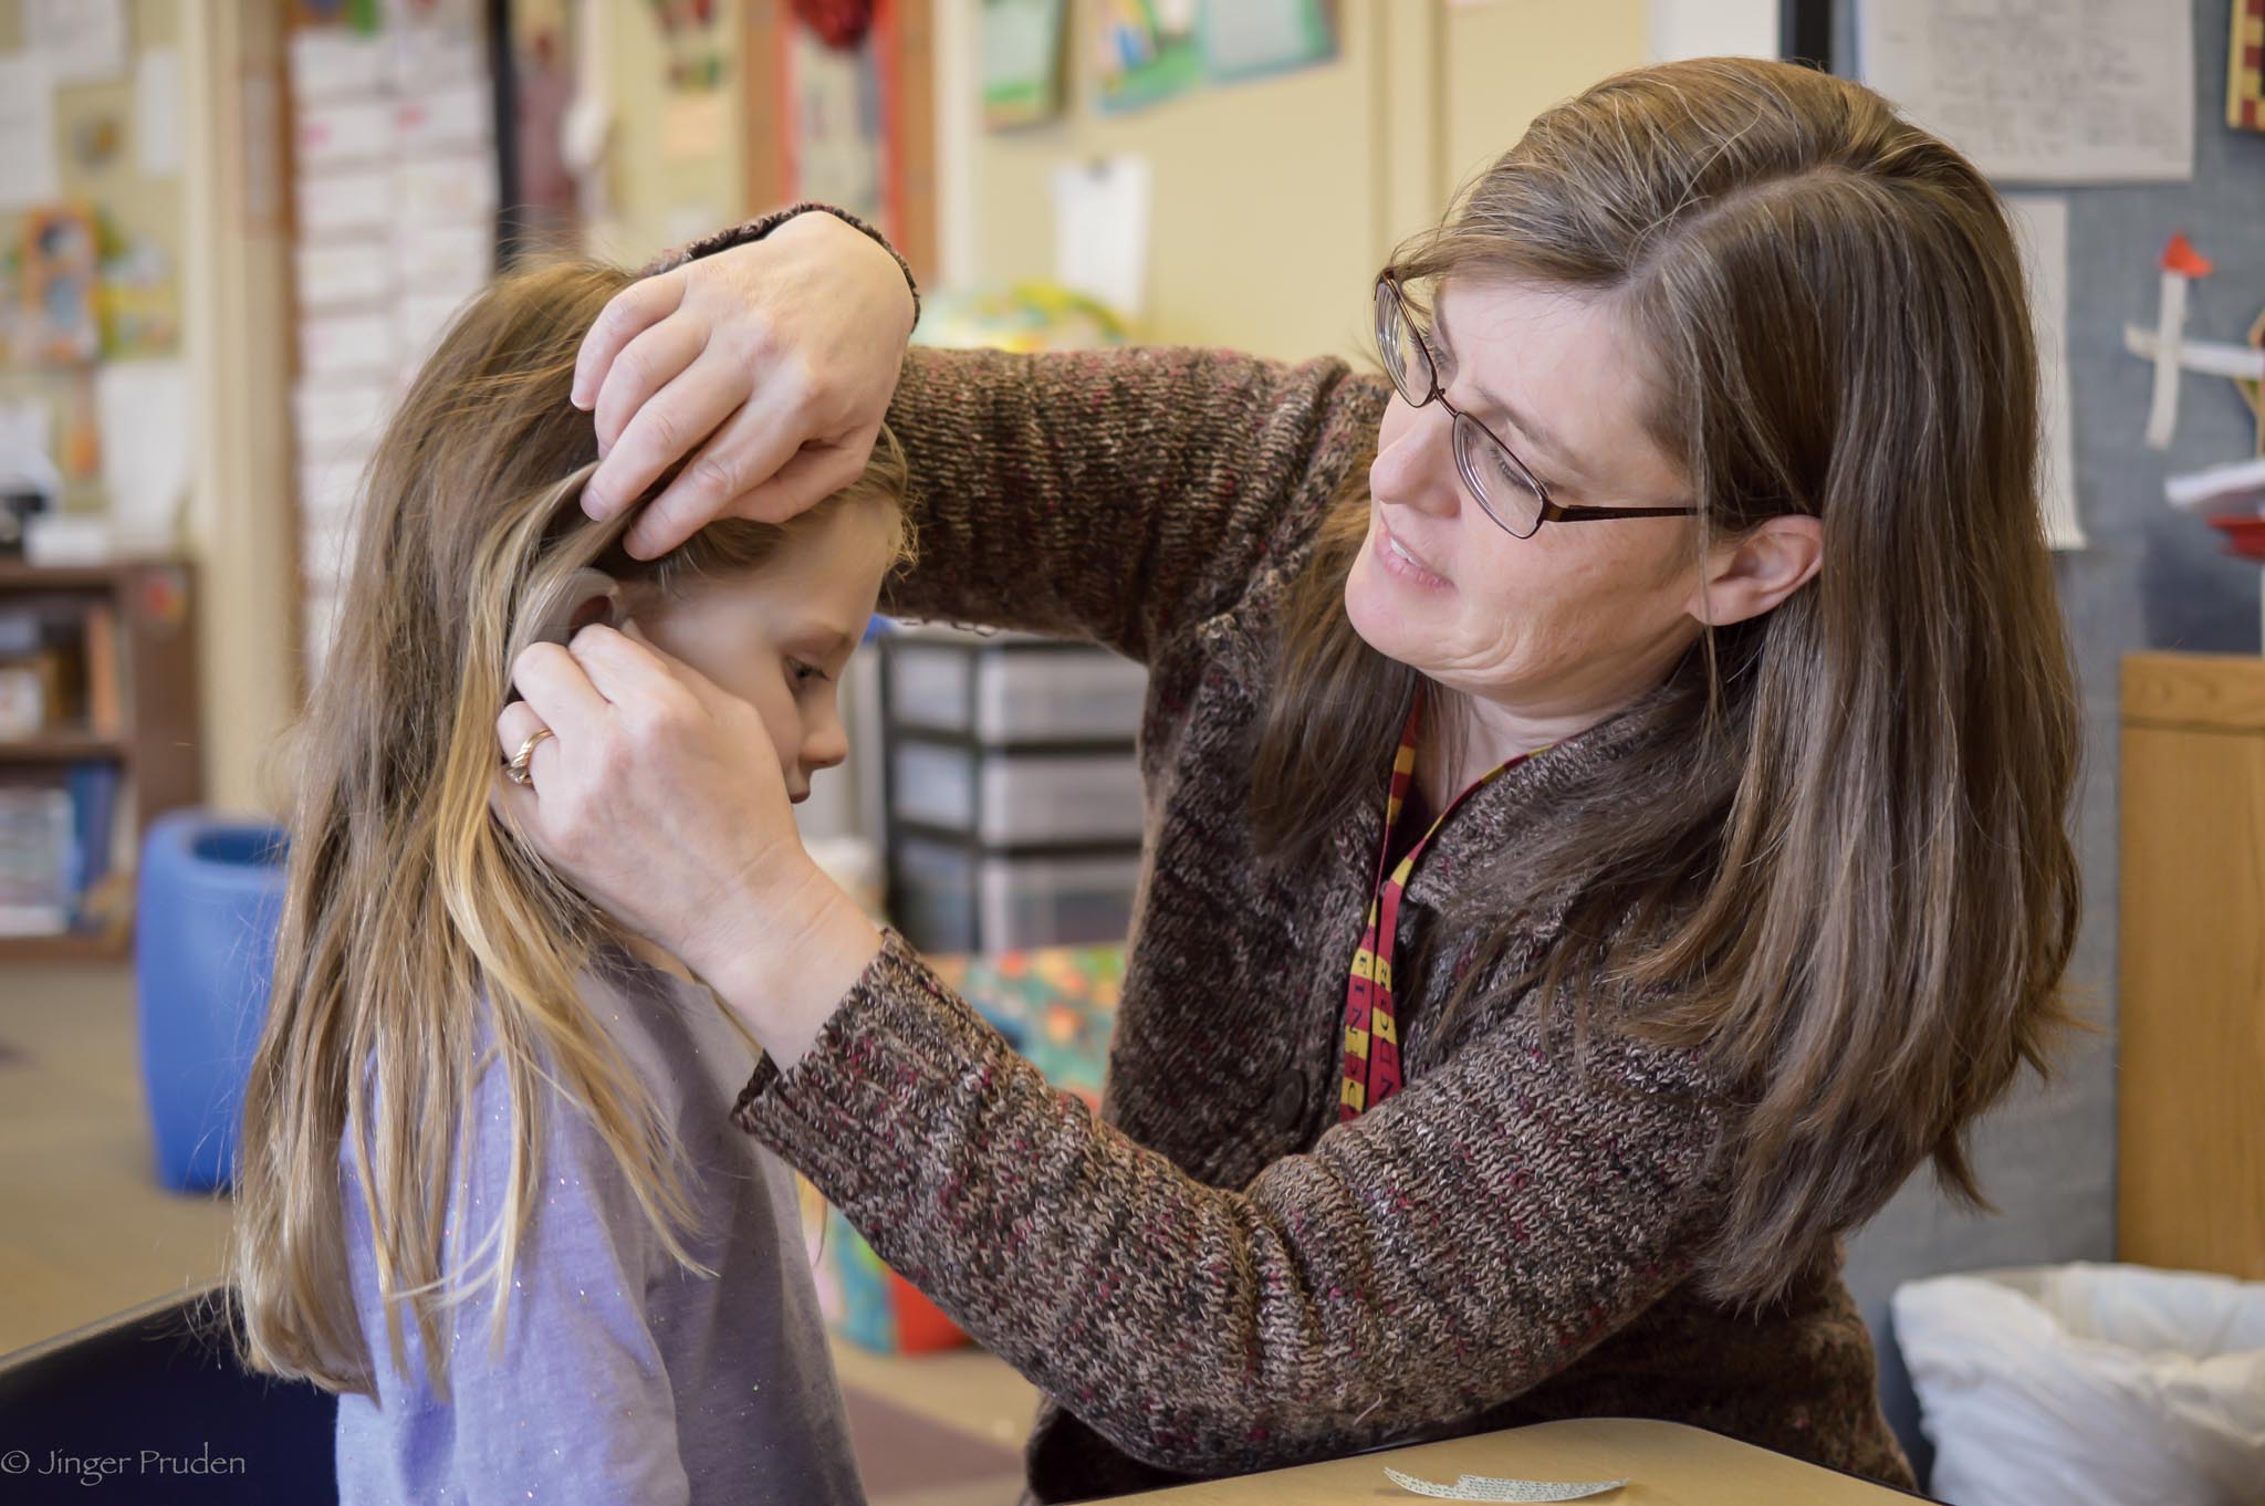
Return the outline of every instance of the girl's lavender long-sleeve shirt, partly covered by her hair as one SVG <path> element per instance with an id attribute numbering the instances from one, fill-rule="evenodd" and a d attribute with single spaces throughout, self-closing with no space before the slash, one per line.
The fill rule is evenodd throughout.
<path id="1" fill-rule="evenodd" d="M 444 1404 L 426 1386 L 414 1323 L 403 1323 L 408 1366 L 392 1368 L 371 1230 L 342 1155 L 353 1300 L 378 1400 L 340 1400 L 340 1501 L 863 1506 L 793 1173 L 729 1123 L 750 1049 L 704 990 L 618 949 L 584 987 L 684 1139 L 693 1207 L 707 1218 L 686 1248 L 718 1275 L 668 1255 L 589 1119 L 553 1096 L 505 1347 L 489 1350 L 485 1298 L 455 1309 Z M 453 1237 L 469 1234 L 460 1250 L 476 1250 L 505 1207 L 501 1064 L 482 1071 L 476 1112 L 448 1212 Z"/>

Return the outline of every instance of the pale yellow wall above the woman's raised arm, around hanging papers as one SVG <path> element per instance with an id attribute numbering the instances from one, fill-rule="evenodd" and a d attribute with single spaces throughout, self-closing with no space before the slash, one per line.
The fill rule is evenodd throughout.
<path id="1" fill-rule="evenodd" d="M 1332 63 L 1101 115 L 1092 7 L 1069 9 L 1062 120 L 978 131 L 969 152 L 972 279 L 1051 276 L 1053 170 L 1137 152 L 1155 174 L 1142 337 L 1282 358 L 1359 353 L 1393 242 L 1540 109 L 1647 50 L 1644 0 L 1341 0 Z M 972 91 L 945 91 L 942 109 L 972 111 Z"/>

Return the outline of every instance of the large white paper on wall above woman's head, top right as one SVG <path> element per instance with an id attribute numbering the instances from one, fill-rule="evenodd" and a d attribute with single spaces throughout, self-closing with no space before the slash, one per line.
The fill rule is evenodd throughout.
<path id="1" fill-rule="evenodd" d="M 2195 7 L 1860 0 L 1864 82 L 1993 179 L 2195 177 Z"/>

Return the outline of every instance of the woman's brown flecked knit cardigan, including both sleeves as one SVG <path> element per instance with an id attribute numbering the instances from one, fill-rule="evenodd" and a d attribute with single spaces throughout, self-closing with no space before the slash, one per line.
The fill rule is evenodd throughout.
<path id="1" fill-rule="evenodd" d="M 745 238 L 750 226 L 698 249 Z M 922 557 L 888 609 L 1148 666 L 1146 867 L 1108 1094 L 1053 1092 L 897 935 L 736 1121 L 1044 1393 L 1028 1497 L 1071 1501 L 1552 1418 L 1667 1418 L 1909 1488 L 1873 1350 L 1817 1264 L 1764 1311 L 1694 1275 L 1730 1087 L 1452 969 L 1402 1003 L 1407 1087 L 1336 1121 L 1382 838 L 1271 872 L 1248 818 L 1277 611 L 1386 387 L 1339 360 L 915 349 L 890 408 Z M 1484 858 L 1644 736 L 1615 718 L 1486 790 L 1407 895 L 1422 944 Z M 1502 960 L 1554 938 L 1536 915 Z"/>

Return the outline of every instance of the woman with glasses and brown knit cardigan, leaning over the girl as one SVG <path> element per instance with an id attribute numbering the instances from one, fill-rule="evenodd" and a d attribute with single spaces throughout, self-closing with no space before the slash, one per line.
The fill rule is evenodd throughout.
<path id="1" fill-rule="evenodd" d="M 1570 1415 L 1909 1483 L 1839 1237 L 1930 1162 L 1980 1203 L 2077 919 L 2005 211 L 1855 84 L 1672 63 L 1373 297 L 1384 378 L 906 356 L 881 247 L 777 215 L 584 344 L 632 550 L 800 510 L 886 417 L 890 611 L 1148 666 L 1099 1119 L 650 645 L 528 650 L 498 752 L 555 736 L 498 811 L 766 1044 L 736 1123 L 1044 1391 L 1033 1499 Z"/>

